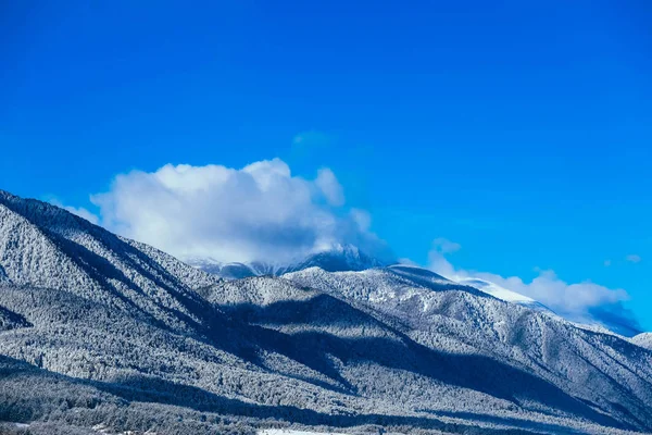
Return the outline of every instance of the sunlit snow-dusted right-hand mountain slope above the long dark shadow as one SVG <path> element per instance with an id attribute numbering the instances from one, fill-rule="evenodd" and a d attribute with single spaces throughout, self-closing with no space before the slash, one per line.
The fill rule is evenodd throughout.
<path id="1" fill-rule="evenodd" d="M 284 277 L 368 307 L 376 318 L 397 319 L 411 338 L 429 348 L 509 362 L 610 414 L 620 414 L 625 407 L 626 414 L 652 418 L 652 355 L 623 338 L 580 330 L 544 311 L 474 294 L 468 287 L 401 283 L 391 269 L 309 269 Z"/>

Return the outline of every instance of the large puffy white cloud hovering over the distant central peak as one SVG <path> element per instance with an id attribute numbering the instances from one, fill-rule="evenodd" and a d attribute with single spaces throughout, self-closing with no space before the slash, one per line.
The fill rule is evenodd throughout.
<path id="1" fill-rule="evenodd" d="M 278 159 L 240 170 L 167 164 L 134 171 L 91 200 L 106 228 L 178 257 L 283 262 L 336 244 L 386 249 L 369 232 L 368 214 L 341 208 L 343 191 L 330 170 L 304 179 Z"/>

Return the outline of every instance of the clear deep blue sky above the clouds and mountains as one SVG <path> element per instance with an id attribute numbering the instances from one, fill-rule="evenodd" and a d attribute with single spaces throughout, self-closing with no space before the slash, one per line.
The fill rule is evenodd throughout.
<path id="1" fill-rule="evenodd" d="M 624 288 L 652 330 L 649 2 L 131 3 L 0 7 L 0 188 L 329 167 L 398 257 Z"/>

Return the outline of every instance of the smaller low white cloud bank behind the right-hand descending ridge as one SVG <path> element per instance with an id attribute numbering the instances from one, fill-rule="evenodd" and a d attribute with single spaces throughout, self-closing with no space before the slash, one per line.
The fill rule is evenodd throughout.
<path id="1" fill-rule="evenodd" d="M 453 281 L 466 278 L 489 281 L 507 290 L 532 298 L 575 322 L 600 321 L 597 319 L 597 313 L 600 312 L 602 316 L 609 314 L 611 321 L 615 320 L 623 325 L 638 328 L 631 312 L 623 307 L 623 302 L 629 299 L 629 295 L 622 288 L 612 289 L 588 281 L 568 284 L 550 270 L 537 270 L 539 275 L 527 283 L 518 276 L 503 277 L 494 273 L 457 269 L 446 258 L 446 253 L 459 249 L 460 245 L 449 240 L 435 240 L 434 249 L 428 254 L 428 269 Z"/>

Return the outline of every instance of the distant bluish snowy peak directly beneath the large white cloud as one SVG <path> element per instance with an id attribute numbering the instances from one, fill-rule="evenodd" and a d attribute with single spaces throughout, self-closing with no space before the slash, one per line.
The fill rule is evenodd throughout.
<path id="1" fill-rule="evenodd" d="M 285 273 L 297 272 L 308 268 L 321 268 L 328 272 L 364 271 L 383 268 L 389 263 L 383 262 L 358 249 L 352 245 L 335 245 L 327 250 L 311 253 L 308 257 L 289 263 L 272 264 L 263 261 L 249 263 L 224 263 L 212 258 L 189 257 L 186 263 L 224 279 L 240 279 L 251 276 L 280 276 Z"/>

